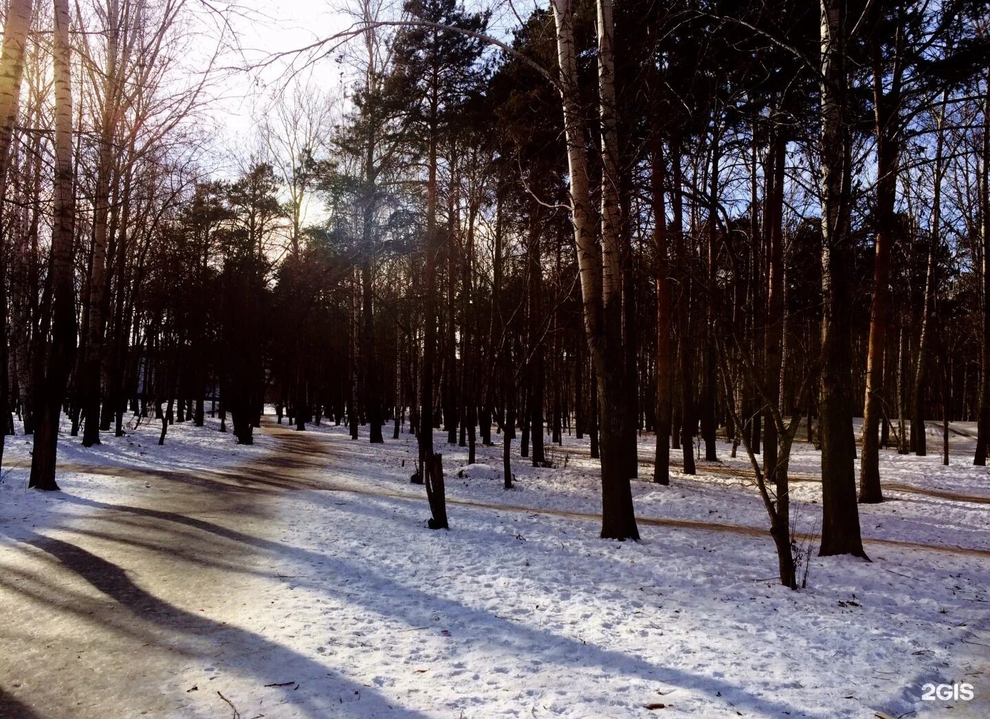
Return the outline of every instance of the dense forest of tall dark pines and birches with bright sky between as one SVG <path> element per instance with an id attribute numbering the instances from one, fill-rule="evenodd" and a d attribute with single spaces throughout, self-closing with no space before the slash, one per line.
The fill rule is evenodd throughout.
<path id="1" fill-rule="evenodd" d="M 0 460 L 30 441 L 30 487 L 77 470 L 60 442 L 342 428 L 412 448 L 420 537 L 457 542 L 463 448 L 506 492 L 587 458 L 629 544 L 638 487 L 733 466 L 801 589 L 812 554 L 882 571 L 897 456 L 986 466 L 981 0 L 344 0 L 260 52 L 249 6 L 7 0 Z M 232 78 L 262 90 L 223 149 Z"/>

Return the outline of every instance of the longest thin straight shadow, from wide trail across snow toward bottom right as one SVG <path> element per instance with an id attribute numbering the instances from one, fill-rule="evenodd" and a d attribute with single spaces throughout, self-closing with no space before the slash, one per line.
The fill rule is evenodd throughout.
<path id="1" fill-rule="evenodd" d="M 796 711 L 788 704 L 755 696 L 746 692 L 742 687 L 731 684 L 727 681 L 722 681 L 717 678 L 698 676 L 681 669 L 658 667 L 649 664 L 640 658 L 623 654 L 622 652 L 615 652 L 612 650 L 603 649 L 601 647 L 596 647 L 594 645 L 578 643 L 572 639 L 560 637 L 544 630 L 521 626 L 507 619 L 498 617 L 490 612 L 467 607 L 457 601 L 427 593 L 417 587 L 400 584 L 393 578 L 383 576 L 379 572 L 374 571 L 369 566 L 356 565 L 341 557 L 328 557 L 310 550 L 290 547 L 279 542 L 254 537 L 234 529 L 222 527 L 212 522 L 207 522 L 195 517 L 187 517 L 174 512 L 147 509 L 143 507 L 131 507 L 127 505 L 107 504 L 104 502 L 96 502 L 94 500 L 73 497 L 71 495 L 66 495 L 65 498 L 68 501 L 75 501 L 89 506 L 133 512 L 135 514 L 154 517 L 163 521 L 175 522 L 184 526 L 194 527 L 203 532 L 208 532 L 224 539 L 240 542 L 249 547 L 264 550 L 272 554 L 291 556 L 297 560 L 304 560 L 311 563 L 320 562 L 325 565 L 326 568 L 324 570 L 332 576 L 359 576 L 361 583 L 368 585 L 368 590 L 361 592 L 356 596 L 350 593 L 345 594 L 341 592 L 341 596 L 346 597 L 347 601 L 359 601 L 367 608 L 379 614 L 391 615 L 409 626 L 422 626 L 425 622 L 430 623 L 430 617 L 436 612 L 441 611 L 450 615 L 458 615 L 470 626 L 487 627 L 490 630 L 487 632 L 487 636 L 514 638 L 520 651 L 532 649 L 533 647 L 540 647 L 543 648 L 544 654 L 554 656 L 562 662 L 574 663 L 575 658 L 580 658 L 578 664 L 583 666 L 613 668 L 615 670 L 637 676 L 651 675 L 655 676 L 657 679 L 672 682 L 679 686 L 696 688 L 700 691 L 711 694 L 713 697 L 718 693 L 721 693 L 728 700 L 734 701 L 734 703 L 738 705 L 748 707 L 751 710 L 762 714 L 779 716 L 787 712 Z M 354 508 L 355 507 L 352 507 L 352 509 Z M 361 506 L 359 511 L 376 512 L 375 509 L 368 505 Z M 377 513 L 380 514 L 380 518 L 382 519 L 389 522 L 395 521 L 394 516 L 390 514 L 385 514 L 384 512 Z M 67 543 L 61 543 L 61 545 L 65 545 L 65 547 L 61 548 L 61 551 L 69 554 L 69 556 L 71 556 L 73 549 L 78 549 L 74 548 L 73 545 L 68 545 Z M 79 550 L 79 552 L 83 551 Z M 88 555 L 89 553 L 84 554 Z M 105 561 L 101 560 L 101 562 L 107 564 Z M 122 601 L 122 603 L 126 603 L 128 600 L 134 599 L 145 602 L 156 601 L 160 604 L 160 600 L 153 597 L 148 598 L 147 596 L 144 596 L 147 594 L 144 590 L 141 590 L 138 587 L 128 586 L 126 583 L 123 583 L 128 582 L 126 575 L 110 572 L 108 576 L 114 582 L 111 585 L 111 588 L 118 589 L 117 593 L 121 593 L 120 589 L 124 588 L 126 588 L 128 592 L 133 592 L 135 590 L 139 592 L 133 596 L 131 594 L 127 594 L 125 596 L 125 601 Z M 99 577 L 94 578 L 98 579 Z M 353 587 L 354 584 L 350 584 L 349 586 Z M 320 585 L 319 588 L 324 591 L 335 591 L 333 587 L 326 584 Z M 404 601 L 401 603 L 391 603 L 387 606 L 382 606 L 380 603 L 375 602 L 376 598 L 380 598 L 382 596 L 403 596 Z M 418 610 L 417 605 L 422 605 L 422 608 Z M 151 604 L 148 606 L 148 609 L 153 610 L 155 606 L 156 605 Z M 193 616 L 192 619 L 201 620 L 202 618 Z"/>

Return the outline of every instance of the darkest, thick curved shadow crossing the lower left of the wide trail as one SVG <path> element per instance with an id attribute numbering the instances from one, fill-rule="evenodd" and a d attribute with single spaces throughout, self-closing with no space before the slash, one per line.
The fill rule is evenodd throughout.
<path id="1" fill-rule="evenodd" d="M 182 638 L 192 645 L 187 648 L 190 654 L 212 658 L 211 650 L 218 645 L 227 644 L 237 648 L 238 656 L 252 658 L 252 661 L 242 668 L 247 668 L 265 681 L 278 680 L 272 677 L 282 677 L 285 672 L 291 671 L 296 676 L 308 677 L 310 683 L 315 680 L 326 681 L 326 677 L 331 677 L 338 685 L 338 691 L 347 687 L 349 693 L 349 690 L 355 686 L 353 681 L 339 672 L 331 671 L 326 665 L 285 646 L 270 642 L 247 630 L 193 614 L 161 600 L 135 584 L 122 567 L 76 545 L 39 534 L 34 534 L 25 542 L 49 554 L 66 569 L 75 572 L 141 620 L 158 625 L 166 632 L 180 633 Z M 305 685 L 307 682 L 303 683 Z M 420 712 L 390 704 L 384 696 L 369 687 L 358 685 L 357 690 L 361 697 L 360 706 L 357 702 L 335 703 L 329 694 L 314 694 L 312 698 L 316 700 L 318 706 L 314 708 L 313 715 L 328 716 L 333 707 L 334 716 L 374 717 L 385 713 L 409 717 L 425 716 Z"/>

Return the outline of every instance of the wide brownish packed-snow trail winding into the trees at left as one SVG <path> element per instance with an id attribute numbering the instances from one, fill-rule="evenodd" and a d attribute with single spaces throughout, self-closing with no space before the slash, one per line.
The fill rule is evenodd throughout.
<path id="1" fill-rule="evenodd" d="M 213 715 L 229 716 L 222 687 L 161 687 L 222 659 L 261 658 L 258 685 L 277 681 L 286 664 L 307 663 L 229 623 L 250 609 L 261 585 L 279 581 L 265 555 L 275 518 L 266 500 L 312 487 L 301 475 L 317 466 L 315 438 L 276 425 L 266 432 L 278 450 L 232 469 L 104 467 L 147 485 L 144 494 L 122 486 L 130 504 L 94 507 L 65 528 L 16 531 L 19 543 L 0 554 L 0 716 L 181 716 L 193 692 L 211 695 Z M 374 691 L 362 694 L 373 707 Z"/>

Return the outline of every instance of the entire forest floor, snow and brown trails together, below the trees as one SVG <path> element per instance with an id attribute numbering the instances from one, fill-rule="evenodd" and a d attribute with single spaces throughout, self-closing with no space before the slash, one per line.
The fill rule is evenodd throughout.
<path id="1" fill-rule="evenodd" d="M 990 716 L 990 473 L 965 427 L 948 467 L 883 453 L 888 501 L 862 508 L 873 562 L 812 556 L 798 592 L 772 579 L 725 445 L 697 477 L 636 482 L 643 541 L 616 543 L 597 539 L 595 463 L 573 439 L 557 468 L 517 443 L 507 492 L 501 438 L 465 465 L 438 433 L 452 529 L 431 532 L 408 435 L 270 417 L 249 448 L 215 422 L 163 448 L 156 432 L 64 438 L 57 493 L 23 488 L 30 444 L 9 438 L 0 716 Z M 798 446 L 811 535 L 816 462 Z M 976 699 L 921 700 L 951 680 Z"/>

